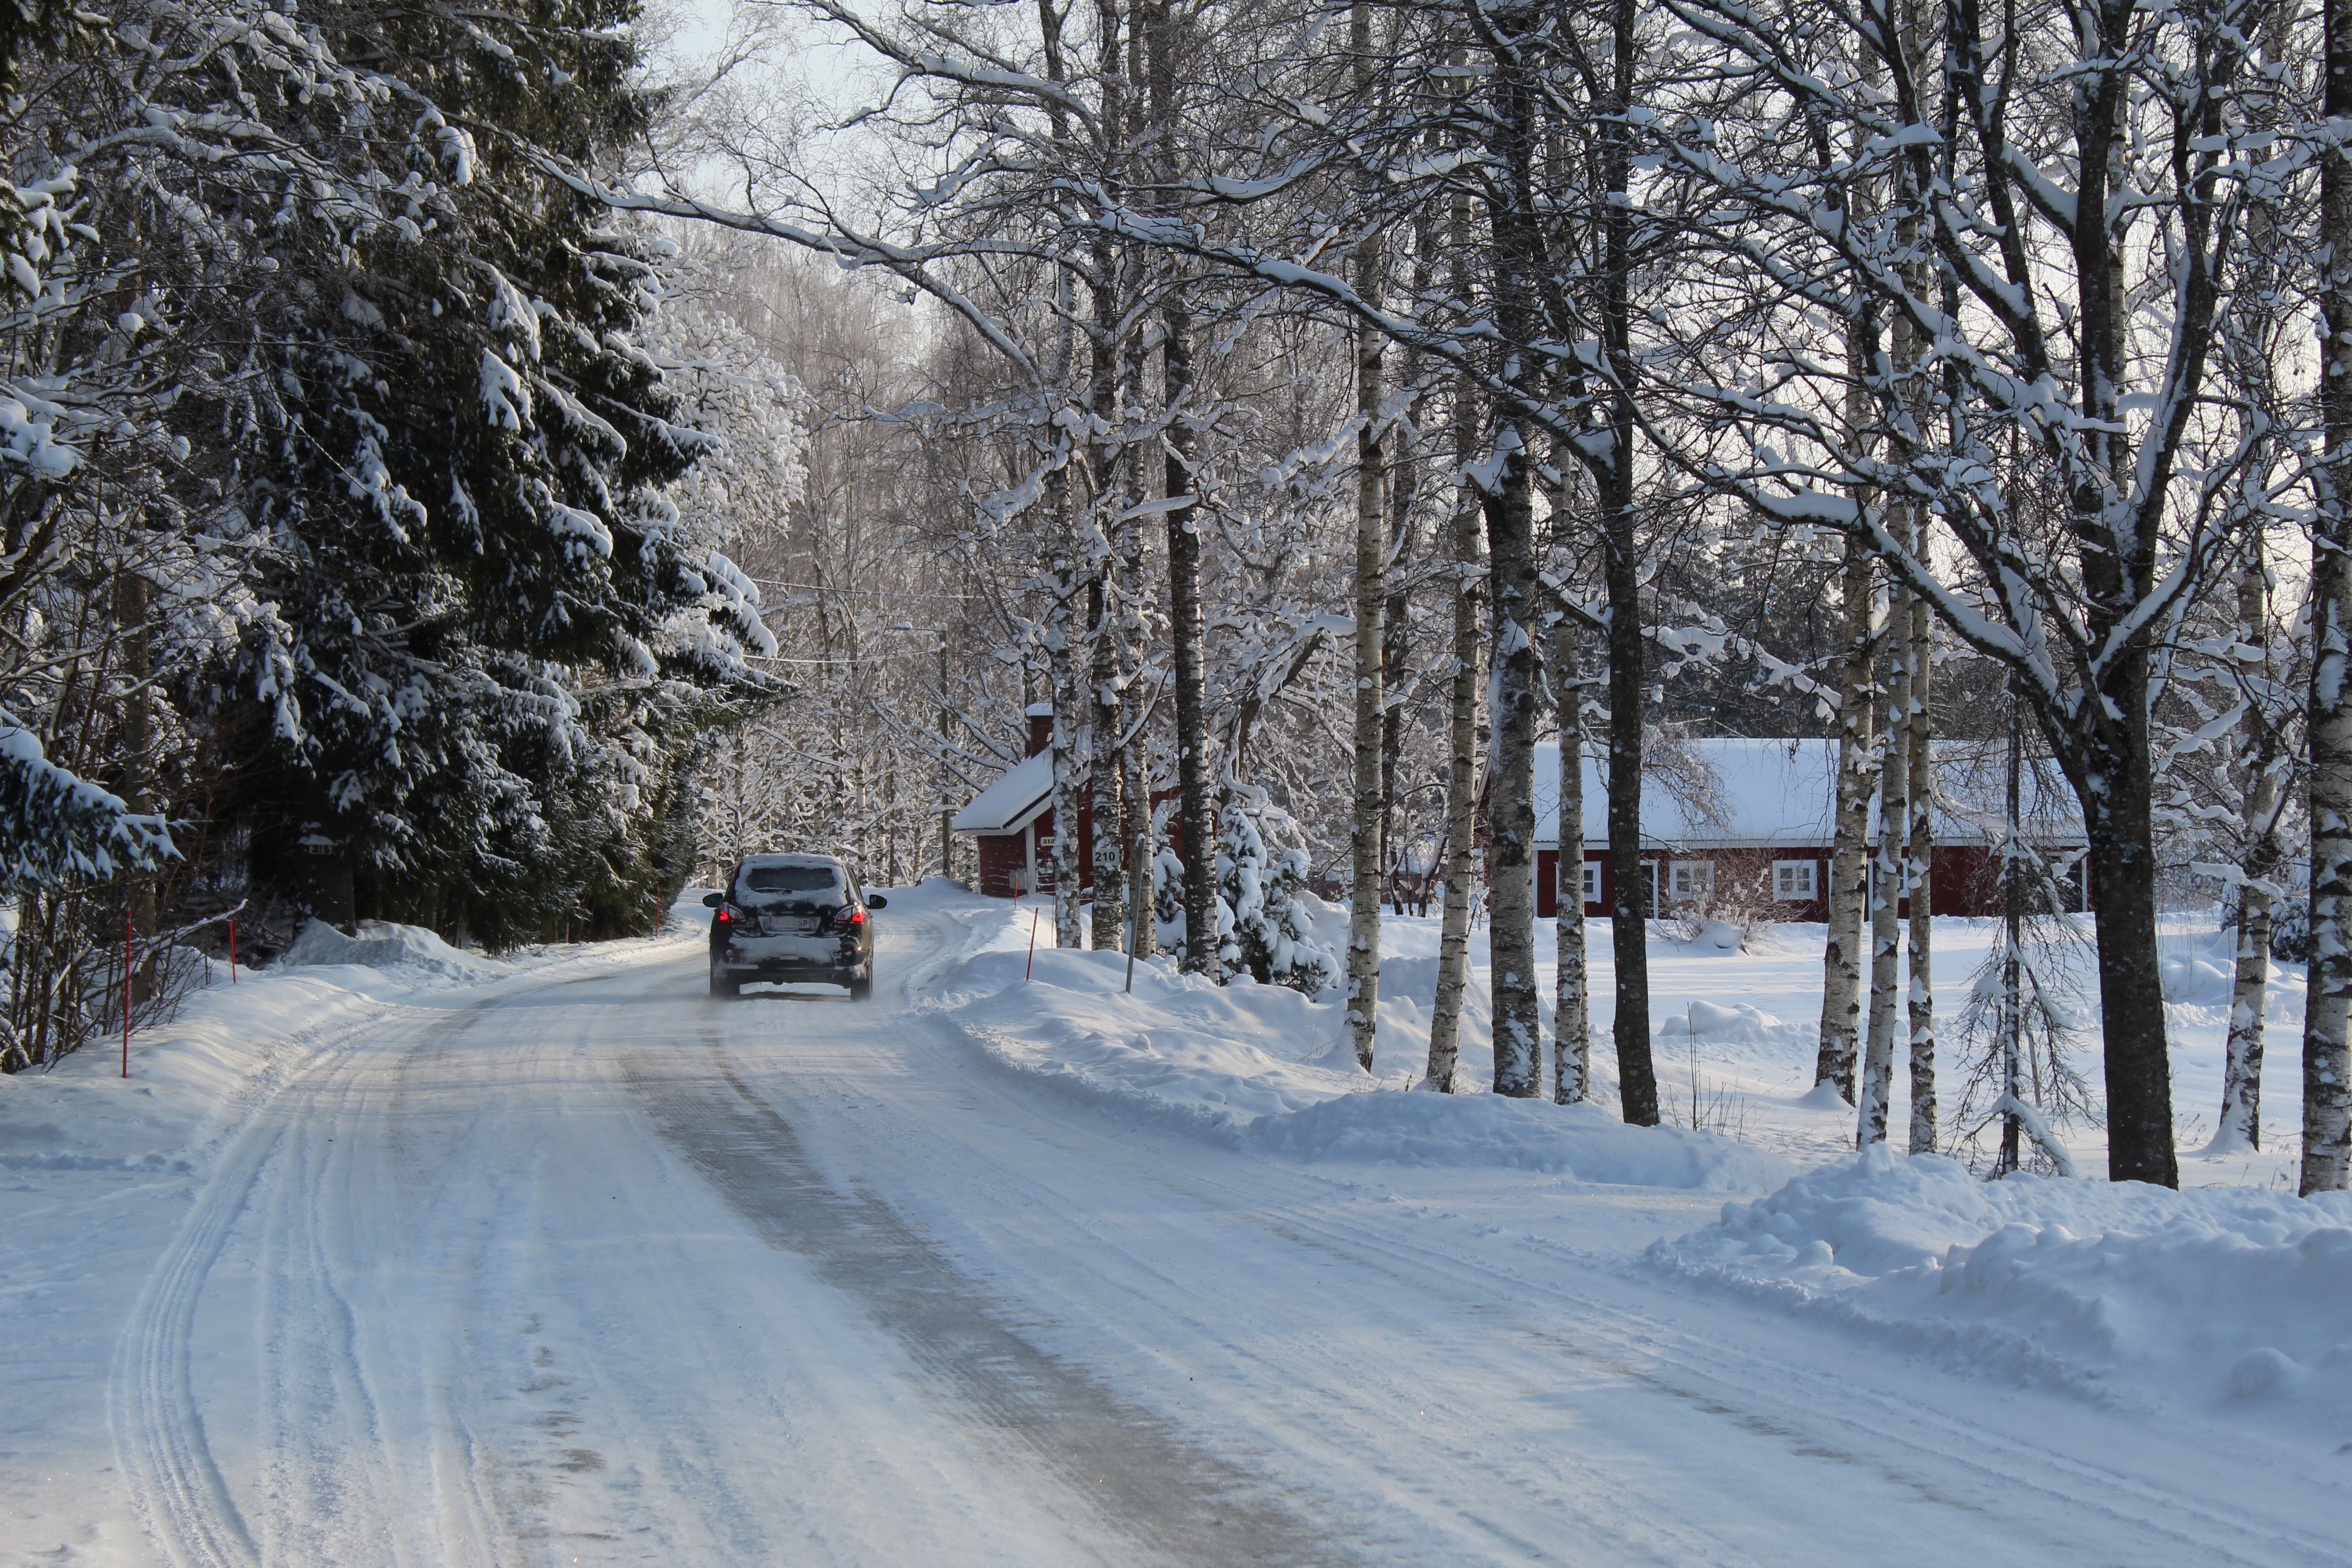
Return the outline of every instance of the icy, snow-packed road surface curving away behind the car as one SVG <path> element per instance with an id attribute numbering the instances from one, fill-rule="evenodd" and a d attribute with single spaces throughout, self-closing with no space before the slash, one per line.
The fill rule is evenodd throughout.
<path id="1" fill-rule="evenodd" d="M 950 936 L 884 919 L 866 1006 L 710 1001 L 699 940 L 388 1004 L 146 1272 L 87 1493 L 143 1533 L 0 1561 L 2347 1561 L 2352 1455 L 1642 1265 L 1719 1197 L 1058 1098 L 908 1011 Z"/>

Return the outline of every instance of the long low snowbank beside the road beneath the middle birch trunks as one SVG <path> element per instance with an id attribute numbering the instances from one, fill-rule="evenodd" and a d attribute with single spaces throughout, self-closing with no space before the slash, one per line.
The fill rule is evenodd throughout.
<path id="1" fill-rule="evenodd" d="M 1044 947 L 1030 971 L 1025 950 L 983 945 L 976 933 L 960 945 L 969 957 L 938 978 L 922 1011 L 976 1041 L 990 1060 L 1120 1117 L 1256 1154 L 1501 1166 L 1703 1192 L 1762 1192 L 1790 1173 L 1783 1159 L 1740 1143 L 1630 1128 L 1592 1105 L 1406 1093 L 1423 1065 L 1425 1025 L 1406 1041 L 1385 1034 L 1367 1077 L 1336 997 L 1312 1001 L 1282 985 L 1251 985 L 1247 976 L 1218 987 L 1164 964 L 1138 964 L 1127 994 L 1127 959 L 1117 952 Z M 1388 959 L 1383 1023 L 1390 1009 L 1425 1009 L 1432 985 L 1435 959 Z M 1484 987 L 1475 1004 L 1484 1006 Z M 1482 1081 L 1470 1051 L 1463 1079 Z"/>

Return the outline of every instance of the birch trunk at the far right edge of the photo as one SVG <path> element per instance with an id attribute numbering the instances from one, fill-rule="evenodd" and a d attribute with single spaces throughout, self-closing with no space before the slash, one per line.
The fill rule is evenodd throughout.
<path id="1" fill-rule="evenodd" d="M 2352 0 L 2324 0 L 2331 125 L 2352 120 Z M 2319 162 L 2319 418 L 2312 520 L 2312 990 L 2303 1013 L 2303 1192 L 2352 1185 L 2352 146 Z"/>

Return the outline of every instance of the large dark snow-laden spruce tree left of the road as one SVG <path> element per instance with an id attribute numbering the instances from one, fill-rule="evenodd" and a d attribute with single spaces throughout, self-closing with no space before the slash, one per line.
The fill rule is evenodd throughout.
<path id="1" fill-rule="evenodd" d="M 642 879 L 609 914 L 569 905 L 659 837 L 670 792 L 644 769 L 675 771 L 701 715 L 656 689 L 746 679 L 743 583 L 663 496 L 710 440 L 635 343 L 666 244 L 534 160 L 644 122 L 630 16 L 115 19 L 207 61 L 148 80 L 158 132 L 96 167 L 125 240 L 191 205 L 228 235 L 242 299 L 183 416 L 238 433 L 207 480 L 252 599 L 198 679 L 219 722 L 270 736 L 230 806 L 254 872 L 325 910 L 642 924 Z"/>

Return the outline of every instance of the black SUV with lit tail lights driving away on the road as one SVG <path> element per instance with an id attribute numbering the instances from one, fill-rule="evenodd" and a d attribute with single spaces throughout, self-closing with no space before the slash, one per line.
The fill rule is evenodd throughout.
<path id="1" fill-rule="evenodd" d="M 851 1001 L 875 994 L 875 924 L 847 867 L 830 856 L 743 856 L 710 905 L 710 994 L 757 980 L 830 980 Z"/>

